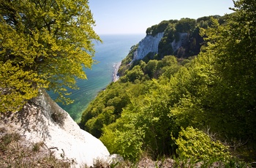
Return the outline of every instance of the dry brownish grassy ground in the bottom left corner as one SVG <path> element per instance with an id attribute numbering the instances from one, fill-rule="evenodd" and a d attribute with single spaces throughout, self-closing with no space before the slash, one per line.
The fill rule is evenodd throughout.
<path id="1" fill-rule="evenodd" d="M 56 159 L 43 142 L 28 144 L 20 134 L 0 134 L 0 167 L 70 167 L 71 163 Z"/>

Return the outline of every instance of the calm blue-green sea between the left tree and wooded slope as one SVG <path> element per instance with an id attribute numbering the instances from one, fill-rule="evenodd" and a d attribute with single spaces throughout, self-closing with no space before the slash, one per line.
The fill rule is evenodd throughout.
<path id="1" fill-rule="evenodd" d="M 91 69 L 85 69 L 87 80 L 77 80 L 79 90 L 69 90 L 72 92 L 69 98 L 73 99 L 74 103 L 69 105 L 58 103 L 59 106 L 66 110 L 74 121 L 79 122 L 83 111 L 97 93 L 113 82 L 116 65 L 128 55 L 130 48 L 145 36 L 146 34 L 99 35 L 103 42 L 94 42 L 96 51 L 94 60 L 97 64 Z M 53 100 L 56 99 L 53 92 L 48 93 Z"/>

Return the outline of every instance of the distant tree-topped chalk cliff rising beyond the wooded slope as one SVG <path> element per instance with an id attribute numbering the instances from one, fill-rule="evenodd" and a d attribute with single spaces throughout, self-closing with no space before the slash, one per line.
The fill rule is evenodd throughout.
<path id="1" fill-rule="evenodd" d="M 225 16 L 219 15 L 195 19 L 164 20 L 146 30 L 144 37 L 137 45 L 131 47 L 129 54 L 118 70 L 120 76 L 132 69 L 139 61 L 161 60 L 165 56 L 176 56 L 184 59 L 197 56 L 205 42 L 200 35 L 200 28 L 211 27 L 211 18 L 225 23 Z"/>

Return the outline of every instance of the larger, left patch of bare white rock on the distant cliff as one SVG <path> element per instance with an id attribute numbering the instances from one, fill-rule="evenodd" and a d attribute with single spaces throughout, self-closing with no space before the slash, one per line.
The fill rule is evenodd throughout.
<path id="1" fill-rule="evenodd" d="M 138 44 L 138 49 L 134 53 L 133 61 L 143 59 L 148 53 L 157 53 L 158 45 L 164 32 L 158 33 L 155 37 L 147 35 Z"/>

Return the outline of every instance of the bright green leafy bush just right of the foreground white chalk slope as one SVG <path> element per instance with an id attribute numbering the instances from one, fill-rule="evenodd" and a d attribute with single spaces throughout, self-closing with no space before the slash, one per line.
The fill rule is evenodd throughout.
<path id="1" fill-rule="evenodd" d="M 99 140 L 106 145 L 110 153 L 120 153 L 125 159 L 136 161 L 142 153 L 144 131 L 135 126 L 137 114 L 122 113 L 115 123 L 103 128 L 102 137 Z"/>

